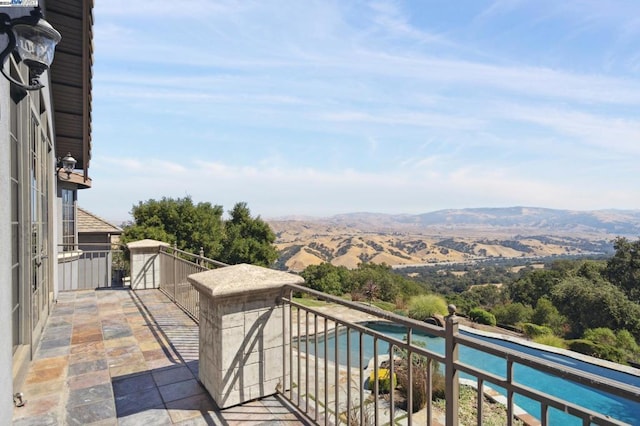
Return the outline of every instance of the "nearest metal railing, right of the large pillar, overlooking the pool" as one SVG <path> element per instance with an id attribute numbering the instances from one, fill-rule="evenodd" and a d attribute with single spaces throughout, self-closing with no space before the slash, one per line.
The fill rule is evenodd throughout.
<path id="1" fill-rule="evenodd" d="M 293 295 L 306 294 L 321 301 L 339 305 L 339 314 L 332 309 L 305 306 Z M 549 409 L 557 409 L 582 424 L 621 425 L 606 414 L 589 407 L 578 406 L 560 398 L 527 387 L 514 378 L 516 364 L 558 376 L 581 386 L 607 392 L 631 402 L 640 401 L 640 387 L 590 374 L 549 360 L 540 359 L 524 352 L 489 343 L 477 336 L 459 331 L 459 318 L 446 317 L 444 328 L 414 321 L 375 307 L 345 301 L 298 285 L 288 285 L 282 298 L 285 315 L 283 329 L 283 374 L 280 393 L 293 405 L 319 424 L 437 424 L 434 418 L 432 396 L 437 386 L 437 377 L 444 380 L 445 422 L 458 424 L 460 374 L 466 373 L 475 381 L 478 394 L 484 394 L 491 384 L 505 390 L 505 424 L 515 421 L 515 395 L 521 395 L 539 404 L 539 413 L 528 413 L 539 419 L 542 425 L 549 423 Z M 348 308 L 351 315 L 345 315 Z M 357 314 L 357 315 L 355 315 Z M 353 318 L 366 316 L 392 323 L 404 329 L 406 338 L 400 340 L 367 327 L 366 323 Z M 352 318 L 352 320 L 346 319 Z M 346 349 L 340 348 L 339 336 L 346 333 Z M 444 353 L 437 353 L 422 347 L 414 334 L 425 333 L 444 339 Z M 363 356 L 364 341 L 373 347 L 373 356 L 365 372 L 362 368 L 367 361 Z M 388 349 L 380 349 L 381 343 Z M 503 360 L 505 371 L 496 375 L 459 359 L 461 347 L 473 348 Z M 385 362 L 386 359 L 386 362 Z M 440 366 L 444 366 L 443 373 Z M 405 389 L 396 394 L 398 388 Z M 412 385 L 409 385 L 412 384 Z M 367 389 L 365 389 L 365 387 Z M 402 398 L 402 401 L 400 400 Z M 424 399 L 418 402 L 416 399 Z M 477 398 L 477 424 L 483 424 L 484 398 Z M 403 402 L 403 407 L 400 404 Z M 421 415 L 414 413 L 414 403 L 424 403 Z"/>

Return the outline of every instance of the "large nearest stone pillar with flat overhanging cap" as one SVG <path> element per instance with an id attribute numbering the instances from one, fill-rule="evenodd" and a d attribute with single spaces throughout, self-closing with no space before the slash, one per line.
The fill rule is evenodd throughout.
<path id="1" fill-rule="evenodd" d="M 279 298 L 285 285 L 304 279 L 247 264 L 188 279 L 200 293 L 199 378 L 218 406 L 242 404 L 284 387 L 290 334 Z"/>

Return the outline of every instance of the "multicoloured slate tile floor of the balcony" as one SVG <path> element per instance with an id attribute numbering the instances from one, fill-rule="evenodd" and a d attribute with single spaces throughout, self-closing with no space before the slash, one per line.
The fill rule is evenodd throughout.
<path id="1" fill-rule="evenodd" d="M 198 381 L 198 326 L 158 290 L 60 293 L 13 425 L 307 424 L 274 396 L 220 410 Z"/>

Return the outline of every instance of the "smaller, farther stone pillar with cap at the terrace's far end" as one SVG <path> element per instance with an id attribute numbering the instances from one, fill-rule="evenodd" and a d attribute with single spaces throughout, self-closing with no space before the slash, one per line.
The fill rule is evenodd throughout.
<path id="1" fill-rule="evenodd" d="M 169 244 L 155 240 L 141 240 L 127 244 L 131 261 L 131 289 L 160 287 L 160 247 Z"/>

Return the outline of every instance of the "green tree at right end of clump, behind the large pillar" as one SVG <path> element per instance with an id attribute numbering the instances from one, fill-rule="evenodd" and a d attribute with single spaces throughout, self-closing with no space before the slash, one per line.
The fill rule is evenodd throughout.
<path id="1" fill-rule="evenodd" d="M 220 260 L 228 264 L 249 263 L 269 267 L 278 258 L 273 245 L 276 235 L 260 216 L 252 217 L 244 202 L 229 211 L 231 218 L 224 224 Z"/>

